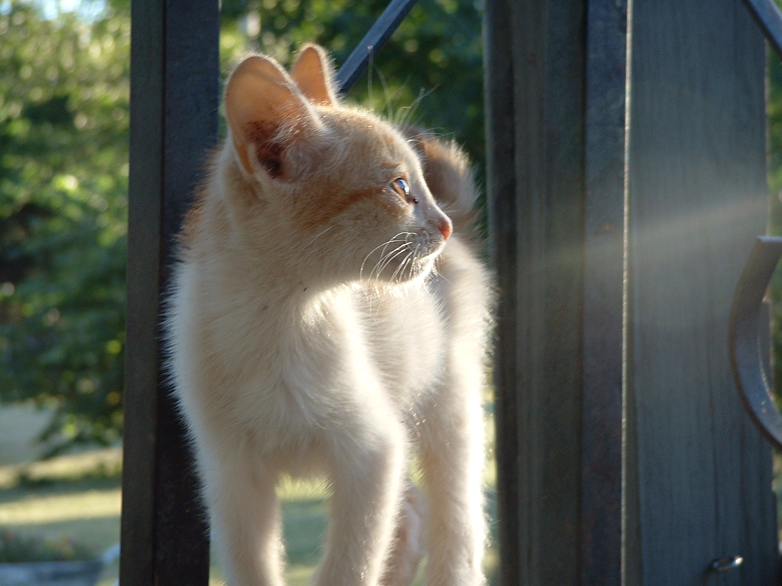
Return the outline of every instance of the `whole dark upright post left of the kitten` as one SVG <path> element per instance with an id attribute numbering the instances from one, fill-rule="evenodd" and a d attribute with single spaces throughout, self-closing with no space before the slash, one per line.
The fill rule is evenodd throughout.
<path id="1" fill-rule="evenodd" d="M 209 535 L 165 384 L 161 299 L 174 234 L 217 142 L 217 0 L 131 5 L 123 586 L 206 586 Z"/>

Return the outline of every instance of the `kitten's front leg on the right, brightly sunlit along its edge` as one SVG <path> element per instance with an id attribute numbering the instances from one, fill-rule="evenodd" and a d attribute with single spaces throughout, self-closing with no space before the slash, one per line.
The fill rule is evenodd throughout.
<path id="1" fill-rule="evenodd" d="M 355 408 L 325 441 L 333 493 L 315 586 L 375 586 L 393 538 L 407 464 L 404 429 L 393 416 Z"/>

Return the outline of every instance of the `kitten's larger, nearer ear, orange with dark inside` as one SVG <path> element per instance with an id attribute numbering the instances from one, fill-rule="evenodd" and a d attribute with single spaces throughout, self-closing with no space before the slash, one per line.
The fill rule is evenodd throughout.
<path id="1" fill-rule="evenodd" d="M 285 149 L 317 127 L 288 73 L 260 55 L 248 57 L 231 73 L 225 114 L 242 166 L 250 174 L 261 166 L 271 177 L 285 175 Z"/>

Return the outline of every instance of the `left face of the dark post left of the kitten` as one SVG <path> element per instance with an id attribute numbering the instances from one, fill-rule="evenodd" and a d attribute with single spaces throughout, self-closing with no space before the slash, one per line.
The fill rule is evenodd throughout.
<path id="1" fill-rule="evenodd" d="M 131 6 L 131 141 L 120 577 L 152 584 L 163 173 L 163 0 Z M 154 395 L 152 395 L 154 396 Z"/>

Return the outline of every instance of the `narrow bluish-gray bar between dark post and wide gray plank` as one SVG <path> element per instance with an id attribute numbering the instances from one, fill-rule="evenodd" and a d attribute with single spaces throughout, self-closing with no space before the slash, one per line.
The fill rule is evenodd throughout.
<path id="1" fill-rule="evenodd" d="M 626 44 L 626 2 L 588 2 L 582 586 L 619 586 L 622 583 Z"/>

